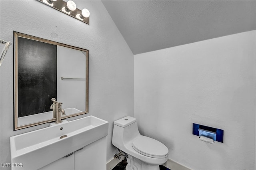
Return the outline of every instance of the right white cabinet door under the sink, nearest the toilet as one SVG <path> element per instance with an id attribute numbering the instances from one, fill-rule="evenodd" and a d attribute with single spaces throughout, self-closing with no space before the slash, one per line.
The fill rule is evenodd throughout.
<path id="1" fill-rule="evenodd" d="M 84 146 L 74 152 L 75 170 L 106 170 L 107 146 L 106 137 Z"/>

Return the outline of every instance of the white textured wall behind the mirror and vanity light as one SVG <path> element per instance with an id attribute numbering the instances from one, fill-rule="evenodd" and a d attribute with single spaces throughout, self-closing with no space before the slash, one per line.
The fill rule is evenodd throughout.
<path id="1" fill-rule="evenodd" d="M 37 0 L 0 0 L 0 37 L 13 41 L 16 31 L 89 50 L 89 113 L 70 120 L 94 115 L 108 121 L 107 160 L 110 160 L 117 152 L 111 144 L 113 121 L 133 116 L 133 54 L 101 1 L 74 2 L 77 8 L 90 10 L 90 25 Z M 13 131 L 12 50 L 13 45 L 0 68 L 1 163 L 10 163 L 10 136 L 48 126 Z"/>

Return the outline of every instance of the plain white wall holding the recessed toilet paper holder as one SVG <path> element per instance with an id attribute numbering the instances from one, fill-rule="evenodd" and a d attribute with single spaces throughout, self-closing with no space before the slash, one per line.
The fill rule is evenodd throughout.
<path id="1" fill-rule="evenodd" d="M 195 170 L 254 169 L 256 31 L 134 55 L 134 117 L 140 132 Z M 224 129 L 224 143 L 192 134 Z"/>

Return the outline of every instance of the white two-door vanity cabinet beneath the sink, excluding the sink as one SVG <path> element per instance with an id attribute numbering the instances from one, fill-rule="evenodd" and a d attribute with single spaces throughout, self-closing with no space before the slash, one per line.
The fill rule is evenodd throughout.
<path id="1" fill-rule="evenodd" d="M 106 170 L 106 136 L 39 170 Z"/>

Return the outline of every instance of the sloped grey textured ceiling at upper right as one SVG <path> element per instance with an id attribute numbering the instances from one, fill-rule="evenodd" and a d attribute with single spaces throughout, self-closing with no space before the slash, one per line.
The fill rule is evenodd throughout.
<path id="1" fill-rule="evenodd" d="M 134 54 L 256 30 L 256 1 L 102 0 Z"/>

